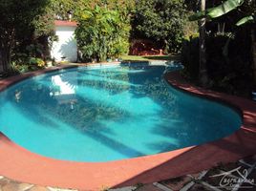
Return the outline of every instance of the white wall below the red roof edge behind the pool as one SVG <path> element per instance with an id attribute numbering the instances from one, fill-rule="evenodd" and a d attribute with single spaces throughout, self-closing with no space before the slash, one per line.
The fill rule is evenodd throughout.
<path id="1" fill-rule="evenodd" d="M 77 60 L 77 45 L 75 41 L 75 28 L 73 26 L 55 26 L 55 34 L 58 36 L 58 41 L 53 42 L 51 50 L 52 58 L 59 62 L 67 60 L 76 62 Z M 62 59 L 61 57 L 66 57 Z"/>

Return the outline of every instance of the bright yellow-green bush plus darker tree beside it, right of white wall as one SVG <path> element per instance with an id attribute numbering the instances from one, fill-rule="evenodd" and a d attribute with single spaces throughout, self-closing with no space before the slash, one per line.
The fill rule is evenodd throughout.
<path id="1" fill-rule="evenodd" d="M 99 0 L 96 5 L 75 13 L 81 61 L 103 61 L 128 53 L 135 39 L 148 39 L 164 53 L 181 51 L 187 16 L 182 0 Z"/>

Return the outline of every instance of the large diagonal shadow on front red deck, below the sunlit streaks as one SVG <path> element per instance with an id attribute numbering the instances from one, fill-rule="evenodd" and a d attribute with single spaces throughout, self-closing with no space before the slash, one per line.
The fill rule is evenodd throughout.
<path id="1" fill-rule="evenodd" d="M 237 161 L 255 154 L 255 143 L 255 135 L 249 136 L 249 134 L 242 131 L 229 138 L 190 148 L 176 157 L 170 155 L 170 159 L 167 161 L 113 187 L 151 183 L 199 173 L 220 163 Z"/>

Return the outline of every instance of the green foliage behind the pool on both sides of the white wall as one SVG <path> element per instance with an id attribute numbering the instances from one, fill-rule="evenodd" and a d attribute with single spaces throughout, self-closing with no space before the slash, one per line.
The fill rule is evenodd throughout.
<path id="1" fill-rule="evenodd" d="M 178 52 L 185 22 L 182 0 L 3 0 L 0 9 L 4 71 L 24 64 L 31 68 L 31 58 L 50 59 L 51 42 L 56 40 L 54 19 L 78 21 L 76 37 L 82 60 L 100 61 L 128 53 L 130 41 L 137 37 L 161 44 L 166 53 Z"/>

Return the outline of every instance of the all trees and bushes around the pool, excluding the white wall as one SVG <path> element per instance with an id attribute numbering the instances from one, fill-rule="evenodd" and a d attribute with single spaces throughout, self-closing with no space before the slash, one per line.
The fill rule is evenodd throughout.
<path id="1" fill-rule="evenodd" d="M 118 58 L 145 40 L 181 53 L 184 76 L 199 85 L 256 90 L 255 0 L 2 0 L 0 10 L 0 65 L 9 74 L 44 68 L 53 21 L 72 14 L 81 62 Z"/>

